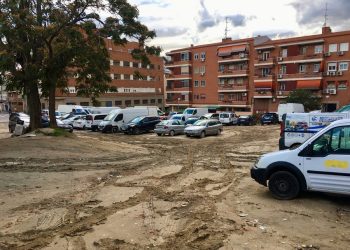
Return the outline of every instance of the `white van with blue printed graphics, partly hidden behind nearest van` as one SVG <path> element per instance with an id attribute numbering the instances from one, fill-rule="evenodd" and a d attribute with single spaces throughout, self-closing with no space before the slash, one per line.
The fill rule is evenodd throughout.
<path id="1" fill-rule="evenodd" d="M 330 123 L 350 118 L 349 113 L 292 113 L 281 122 L 279 149 L 296 147 Z"/>

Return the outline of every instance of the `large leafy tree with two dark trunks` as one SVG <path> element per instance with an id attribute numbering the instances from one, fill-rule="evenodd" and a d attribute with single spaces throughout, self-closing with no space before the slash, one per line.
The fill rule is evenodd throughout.
<path id="1" fill-rule="evenodd" d="M 102 18 L 99 13 L 109 16 Z M 104 39 L 123 45 L 148 64 L 160 49 L 147 46 L 155 32 L 138 21 L 138 9 L 126 0 L 3 0 L 0 2 L 0 84 L 28 98 L 31 128 L 40 127 L 40 94 L 49 97 L 55 125 L 55 93 L 75 75 L 77 95 L 93 101 L 109 86 L 109 56 Z M 41 91 L 39 91 L 41 90 Z"/>

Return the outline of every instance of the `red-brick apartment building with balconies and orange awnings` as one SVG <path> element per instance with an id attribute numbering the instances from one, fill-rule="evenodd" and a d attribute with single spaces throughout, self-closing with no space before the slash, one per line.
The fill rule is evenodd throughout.
<path id="1" fill-rule="evenodd" d="M 290 91 L 309 89 L 324 111 L 350 103 L 350 31 L 271 40 L 223 39 L 167 53 L 166 105 L 275 112 Z"/>

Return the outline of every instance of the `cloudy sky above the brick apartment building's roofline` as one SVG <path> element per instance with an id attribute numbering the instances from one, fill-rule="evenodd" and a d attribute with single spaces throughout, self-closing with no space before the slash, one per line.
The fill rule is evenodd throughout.
<path id="1" fill-rule="evenodd" d="M 326 2 L 332 30 L 350 30 L 350 0 L 129 0 L 141 22 L 156 31 L 152 44 L 163 52 L 221 41 L 226 17 L 233 39 L 318 34 Z"/>

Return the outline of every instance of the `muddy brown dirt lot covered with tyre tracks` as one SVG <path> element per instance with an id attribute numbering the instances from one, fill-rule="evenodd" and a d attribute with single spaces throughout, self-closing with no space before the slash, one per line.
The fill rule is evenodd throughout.
<path id="1" fill-rule="evenodd" d="M 0 249 L 349 249 L 349 197 L 278 201 L 250 178 L 277 126 L 0 134 Z"/>

